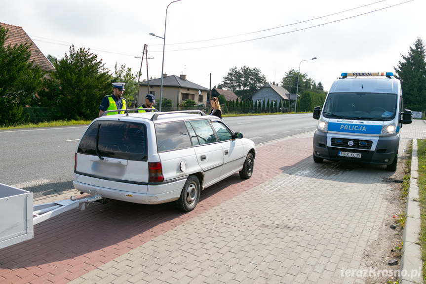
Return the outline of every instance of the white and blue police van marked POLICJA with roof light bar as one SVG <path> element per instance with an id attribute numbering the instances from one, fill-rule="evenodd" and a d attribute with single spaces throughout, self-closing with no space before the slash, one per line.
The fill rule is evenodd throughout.
<path id="1" fill-rule="evenodd" d="M 314 162 L 365 162 L 395 171 L 399 131 L 412 114 L 403 110 L 401 82 L 393 73 L 342 73 L 313 118 L 319 120 Z"/>

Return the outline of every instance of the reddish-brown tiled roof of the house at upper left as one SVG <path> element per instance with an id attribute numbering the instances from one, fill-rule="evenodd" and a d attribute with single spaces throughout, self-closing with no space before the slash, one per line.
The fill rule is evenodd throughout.
<path id="1" fill-rule="evenodd" d="M 22 27 L 12 26 L 4 23 L 0 23 L 0 26 L 5 30 L 8 29 L 7 36 L 8 38 L 4 41 L 4 45 L 15 46 L 15 44 L 31 44 L 30 51 L 31 57 L 30 60 L 39 65 L 42 71 L 53 72 L 55 71 L 55 67 L 50 63 L 50 61 L 44 56 L 44 54 L 40 51 L 37 45 L 30 39 L 27 33 L 22 29 Z"/>

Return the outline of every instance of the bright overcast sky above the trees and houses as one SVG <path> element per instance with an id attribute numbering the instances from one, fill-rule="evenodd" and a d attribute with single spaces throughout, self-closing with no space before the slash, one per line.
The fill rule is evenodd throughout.
<path id="1" fill-rule="evenodd" d="M 164 37 L 170 2 L 3 1 L 0 22 L 22 27 L 45 56 L 84 46 L 110 70 L 136 73 L 148 44 L 149 77 L 160 78 L 163 40 L 149 34 Z M 167 10 L 164 73 L 209 88 L 210 73 L 213 87 L 234 66 L 269 82 L 300 66 L 328 90 L 342 72 L 393 72 L 418 37 L 426 41 L 425 12 L 425 0 L 180 0 Z"/>

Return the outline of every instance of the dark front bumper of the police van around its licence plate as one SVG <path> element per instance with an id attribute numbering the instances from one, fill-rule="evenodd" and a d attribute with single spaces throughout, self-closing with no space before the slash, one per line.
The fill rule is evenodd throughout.
<path id="1" fill-rule="evenodd" d="M 365 162 L 373 164 L 391 164 L 398 153 L 399 136 L 387 137 L 369 137 L 359 136 L 353 139 L 369 140 L 377 139 L 377 144 L 374 144 L 374 149 L 356 149 L 346 147 L 333 147 L 327 142 L 327 135 L 332 137 L 340 137 L 342 135 L 333 133 L 324 133 L 316 130 L 313 136 L 313 155 L 331 161 L 350 161 L 350 162 Z M 342 136 L 343 137 L 343 136 Z M 353 136 L 352 136 L 353 137 Z M 347 137 L 345 137 L 347 138 Z M 349 158 L 339 156 L 339 152 L 359 153 L 361 158 Z"/>

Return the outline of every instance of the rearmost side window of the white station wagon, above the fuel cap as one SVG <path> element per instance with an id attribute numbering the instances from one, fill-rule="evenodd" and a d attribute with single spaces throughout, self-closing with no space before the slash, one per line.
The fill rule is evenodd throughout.
<path id="1" fill-rule="evenodd" d="M 158 153 L 192 147 L 185 122 L 170 122 L 155 125 Z"/>

